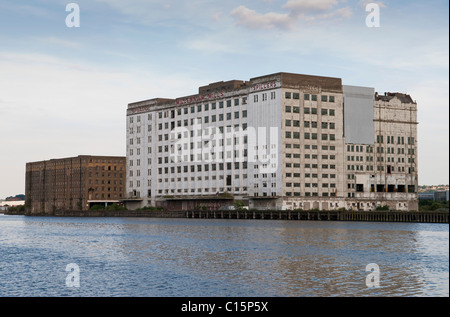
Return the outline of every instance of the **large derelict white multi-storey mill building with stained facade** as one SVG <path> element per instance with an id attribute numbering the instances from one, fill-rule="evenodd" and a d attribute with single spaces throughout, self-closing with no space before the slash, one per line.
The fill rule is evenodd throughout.
<path id="1" fill-rule="evenodd" d="M 126 169 L 130 209 L 417 210 L 417 104 L 331 77 L 213 83 L 129 104 Z"/>

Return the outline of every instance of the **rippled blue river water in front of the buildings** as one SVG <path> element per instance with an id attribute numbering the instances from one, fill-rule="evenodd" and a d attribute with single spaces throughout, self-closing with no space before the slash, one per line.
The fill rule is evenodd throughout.
<path id="1" fill-rule="evenodd" d="M 449 296 L 449 226 L 0 215 L 19 296 Z"/>

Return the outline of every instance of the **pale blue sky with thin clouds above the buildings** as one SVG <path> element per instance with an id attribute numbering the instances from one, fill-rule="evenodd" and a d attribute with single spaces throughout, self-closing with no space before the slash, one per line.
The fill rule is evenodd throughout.
<path id="1" fill-rule="evenodd" d="M 0 199 L 25 192 L 27 162 L 125 156 L 131 102 L 278 72 L 410 94 L 419 185 L 448 184 L 448 12 L 447 0 L 1 0 Z"/>

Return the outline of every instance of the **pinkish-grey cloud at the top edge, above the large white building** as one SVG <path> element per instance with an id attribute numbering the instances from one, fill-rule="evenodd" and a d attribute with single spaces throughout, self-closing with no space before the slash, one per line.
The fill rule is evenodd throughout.
<path id="1" fill-rule="evenodd" d="M 236 24 L 250 29 L 294 30 L 298 21 L 342 20 L 352 16 L 350 7 L 336 8 L 338 0 L 289 0 L 281 8 L 287 13 L 258 13 L 243 5 L 231 11 Z"/>

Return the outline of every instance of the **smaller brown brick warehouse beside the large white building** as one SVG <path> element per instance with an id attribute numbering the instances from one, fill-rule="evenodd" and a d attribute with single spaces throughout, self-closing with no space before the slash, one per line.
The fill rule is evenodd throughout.
<path id="1" fill-rule="evenodd" d="M 125 157 L 86 156 L 26 164 L 28 213 L 88 210 L 118 203 L 125 193 Z"/>

